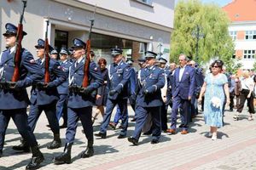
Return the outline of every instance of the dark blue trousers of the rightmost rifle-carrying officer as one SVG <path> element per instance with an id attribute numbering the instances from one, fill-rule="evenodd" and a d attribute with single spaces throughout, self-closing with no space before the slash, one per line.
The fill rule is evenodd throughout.
<path id="1" fill-rule="evenodd" d="M 92 106 L 83 108 L 67 108 L 67 131 L 66 142 L 73 143 L 79 119 L 84 128 L 84 133 L 88 141 L 93 141 L 93 127 L 91 121 Z"/>

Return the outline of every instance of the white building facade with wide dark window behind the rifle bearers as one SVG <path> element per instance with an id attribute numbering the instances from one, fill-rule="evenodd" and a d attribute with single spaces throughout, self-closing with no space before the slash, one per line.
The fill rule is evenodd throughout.
<path id="1" fill-rule="evenodd" d="M 5 24 L 18 24 L 21 0 L 0 1 L 1 35 Z M 22 44 L 32 54 L 38 38 L 44 39 L 49 20 L 49 42 L 60 51 L 70 48 L 74 37 L 87 40 L 90 21 L 94 16 L 91 47 L 96 57 L 110 62 L 109 49 L 115 45 L 124 49 L 127 58 L 137 59 L 151 49 L 169 57 L 173 30 L 174 0 L 33 0 L 28 1 L 24 31 L 28 35 Z M 4 47 L 3 37 L 0 40 Z"/>

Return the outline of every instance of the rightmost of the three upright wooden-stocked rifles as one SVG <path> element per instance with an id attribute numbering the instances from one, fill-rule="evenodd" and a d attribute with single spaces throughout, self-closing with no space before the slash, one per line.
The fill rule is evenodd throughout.
<path id="1" fill-rule="evenodd" d="M 83 80 L 83 85 L 82 85 L 83 88 L 86 88 L 89 85 L 90 39 L 91 39 L 92 26 L 94 25 L 95 13 L 96 13 L 96 7 L 94 9 L 93 19 L 90 20 L 90 32 L 89 32 L 88 40 L 86 41 L 86 48 L 85 48 L 86 59 L 84 62 L 84 80 Z"/>

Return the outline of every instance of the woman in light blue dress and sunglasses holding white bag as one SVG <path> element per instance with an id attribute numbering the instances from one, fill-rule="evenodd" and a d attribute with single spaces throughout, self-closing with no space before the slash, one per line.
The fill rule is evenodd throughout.
<path id="1" fill-rule="evenodd" d="M 223 106 L 224 99 L 227 105 L 230 104 L 230 93 L 227 77 L 221 73 L 224 63 L 221 60 L 215 60 L 211 65 L 211 73 L 205 78 L 201 88 L 199 101 L 205 94 L 204 118 L 207 125 L 210 126 L 209 136 L 212 140 L 217 139 L 218 127 L 223 127 Z M 226 96 L 226 97 L 225 97 Z"/>

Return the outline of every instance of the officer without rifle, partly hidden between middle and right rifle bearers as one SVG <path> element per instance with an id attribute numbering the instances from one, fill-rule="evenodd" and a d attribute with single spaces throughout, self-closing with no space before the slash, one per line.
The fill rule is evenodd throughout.
<path id="1" fill-rule="evenodd" d="M 60 66 L 61 70 L 65 71 L 68 75 L 69 67 L 73 65 L 72 62 L 70 62 L 68 57 L 68 50 L 67 48 L 61 48 L 60 52 Z M 63 124 L 60 126 L 60 128 L 66 128 L 67 127 L 67 99 L 68 99 L 68 79 L 63 82 L 60 86 L 57 87 L 58 94 L 60 95 L 60 99 L 57 102 L 56 105 L 56 116 L 58 120 L 60 121 L 61 116 L 63 116 Z"/>

